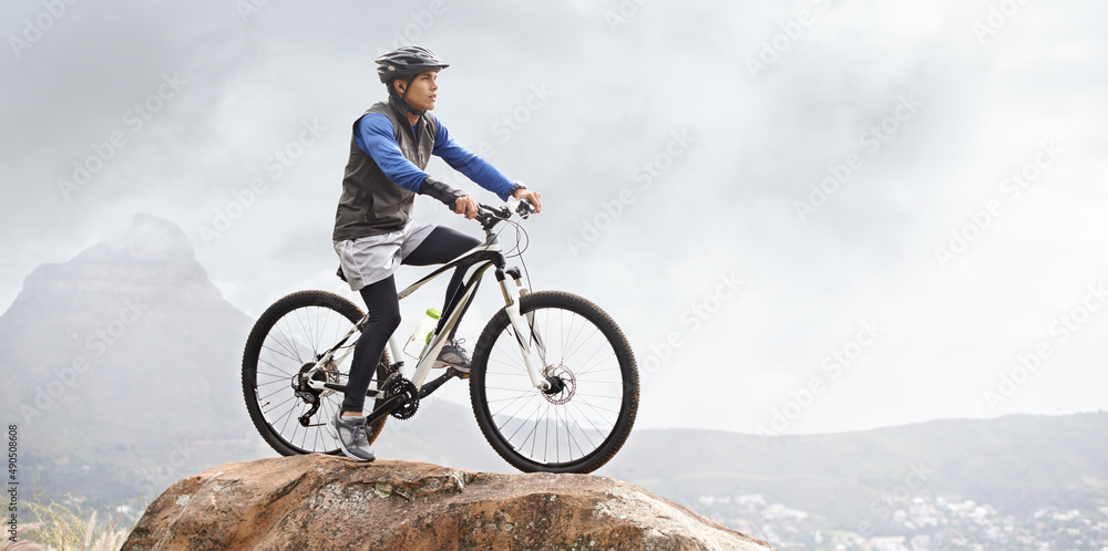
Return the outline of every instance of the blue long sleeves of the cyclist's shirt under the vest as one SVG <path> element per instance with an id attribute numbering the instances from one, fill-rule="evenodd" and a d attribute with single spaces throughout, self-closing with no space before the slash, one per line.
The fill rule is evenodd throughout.
<path id="1" fill-rule="evenodd" d="M 434 115 L 431 115 L 434 117 Z M 434 136 L 431 154 L 445 160 L 454 170 L 464 174 L 479 186 L 507 200 L 512 181 L 485 159 L 470 153 L 454 141 L 442 122 L 435 118 L 439 132 Z M 353 139 L 358 148 L 373 158 L 393 184 L 419 194 L 419 186 L 428 174 L 420 170 L 400 152 L 397 136 L 389 117 L 381 113 L 370 113 L 356 123 Z"/>

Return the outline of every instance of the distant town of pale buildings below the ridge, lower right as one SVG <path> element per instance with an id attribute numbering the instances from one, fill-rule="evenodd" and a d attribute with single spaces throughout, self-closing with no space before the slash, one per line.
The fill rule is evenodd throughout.
<path id="1" fill-rule="evenodd" d="M 1108 507 L 1040 508 L 1018 518 L 957 497 L 914 497 L 849 529 L 821 528 L 808 512 L 768 503 L 758 493 L 701 496 L 696 509 L 782 550 L 1108 550 Z"/>

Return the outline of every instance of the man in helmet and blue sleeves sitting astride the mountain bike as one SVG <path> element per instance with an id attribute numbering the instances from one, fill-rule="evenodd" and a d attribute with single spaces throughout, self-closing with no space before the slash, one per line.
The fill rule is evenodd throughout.
<path id="1" fill-rule="evenodd" d="M 372 461 L 371 430 L 363 406 L 373 370 L 384 353 L 389 336 L 400 325 L 400 302 L 393 273 L 400 264 L 428 266 L 449 262 L 481 241 L 445 226 L 414 223 L 417 194 L 428 195 L 472 219 L 476 201 L 461 190 L 428 176 L 423 170 L 437 155 L 455 170 L 502 200 L 530 200 L 542 211 L 540 194 L 512 183 L 491 164 L 459 145 L 447 128 L 428 113 L 434 108 L 439 71 L 448 65 L 430 50 L 403 46 L 376 60 L 389 98 L 370 107 L 353 123 L 350 159 L 342 178 L 342 195 L 335 216 L 332 240 L 339 256 L 339 276 L 359 291 L 369 313 L 355 346 L 350 381 L 340 412 L 331 424 L 343 454 Z M 459 266 L 447 284 L 443 311 L 461 298 Z M 440 324 L 445 320 L 440 320 Z M 454 331 L 435 361 L 435 367 L 452 366 L 468 373 L 469 354 L 454 340 Z"/>

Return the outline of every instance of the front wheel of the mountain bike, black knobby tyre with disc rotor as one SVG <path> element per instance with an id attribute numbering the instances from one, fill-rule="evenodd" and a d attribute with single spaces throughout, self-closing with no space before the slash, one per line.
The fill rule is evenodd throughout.
<path id="1" fill-rule="evenodd" d="M 592 472 L 623 446 L 638 412 L 635 355 L 619 328 L 592 302 L 561 291 L 530 293 L 517 335 L 503 309 L 473 351 L 470 399 L 481 432 L 525 472 Z M 532 385 L 520 342 L 543 363 L 547 391 Z"/>

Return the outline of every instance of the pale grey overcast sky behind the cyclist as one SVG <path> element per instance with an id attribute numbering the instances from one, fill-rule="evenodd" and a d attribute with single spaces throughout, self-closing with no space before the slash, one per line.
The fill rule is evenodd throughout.
<path id="1" fill-rule="evenodd" d="M 178 225 L 250 316 L 300 289 L 355 298 L 330 246 L 350 124 L 384 96 L 373 58 L 414 42 L 451 63 L 434 114 L 543 194 L 535 289 L 594 300 L 630 337 L 639 426 L 1108 406 L 1102 2 L 0 12 L 0 308 L 135 212 Z M 425 198 L 417 217 L 478 231 Z"/>

